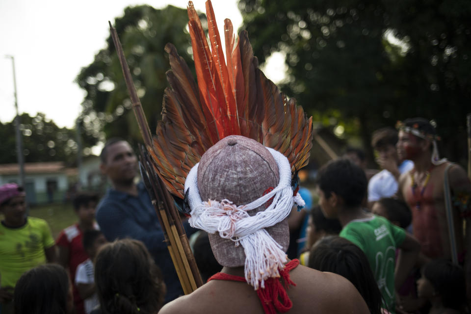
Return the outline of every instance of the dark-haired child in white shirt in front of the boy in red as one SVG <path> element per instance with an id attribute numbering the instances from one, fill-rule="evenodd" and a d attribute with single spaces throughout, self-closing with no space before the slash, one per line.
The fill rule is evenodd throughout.
<path id="1" fill-rule="evenodd" d="M 75 284 L 83 300 L 86 314 L 90 314 L 100 304 L 95 288 L 95 271 L 92 261 L 106 242 L 105 235 L 99 230 L 87 230 L 83 233 L 83 248 L 90 258 L 78 265 Z"/>

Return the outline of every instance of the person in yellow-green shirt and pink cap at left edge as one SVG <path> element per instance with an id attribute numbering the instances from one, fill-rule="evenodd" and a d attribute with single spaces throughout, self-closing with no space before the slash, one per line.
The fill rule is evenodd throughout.
<path id="1" fill-rule="evenodd" d="M 27 270 L 56 262 L 51 229 L 43 219 L 26 216 L 25 190 L 15 183 L 0 186 L 0 304 L 1 313 L 13 310 L 13 288 Z"/>

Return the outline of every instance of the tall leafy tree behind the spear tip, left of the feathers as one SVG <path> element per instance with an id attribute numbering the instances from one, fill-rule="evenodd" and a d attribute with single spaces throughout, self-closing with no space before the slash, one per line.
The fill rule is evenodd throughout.
<path id="1" fill-rule="evenodd" d="M 185 61 L 191 61 L 187 22 L 186 10 L 171 5 L 164 9 L 149 5 L 127 7 L 124 16 L 115 20 L 114 27 L 151 130 L 155 130 L 160 120 L 163 91 L 167 86 L 165 73 L 170 68 L 165 44 L 173 43 Z M 86 91 L 81 113 L 84 129 L 101 140 L 118 136 L 131 142 L 140 141 L 111 36 L 106 43 L 106 48 L 82 68 L 76 79 Z"/>

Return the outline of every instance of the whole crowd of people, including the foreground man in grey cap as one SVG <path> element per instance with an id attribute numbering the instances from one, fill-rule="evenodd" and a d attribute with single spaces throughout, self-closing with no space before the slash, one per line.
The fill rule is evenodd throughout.
<path id="1" fill-rule="evenodd" d="M 312 195 L 293 193 L 280 153 L 220 140 L 185 183 L 183 226 L 207 281 L 185 296 L 136 155 L 108 140 L 111 187 L 101 200 L 79 192 L 78 221 L 55 241 L 26 216 L 25 190 L 0 186 L 0 314 L 469 313 L 471 183 L 437 140 L 422 118 L 375 131 L 380 171 L 349 149 Z"/>

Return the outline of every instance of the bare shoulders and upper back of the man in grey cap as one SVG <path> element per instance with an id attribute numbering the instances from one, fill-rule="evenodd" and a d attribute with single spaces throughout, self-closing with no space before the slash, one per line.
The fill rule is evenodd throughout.
<path id="1" fill-rule="evenodd" d="M 296 286 L 288 289 L 288 313 L 369 313 L 357 289 L 345 278 L 302 265 L 290 272 Z M 159 314 L 263 313 L 254 289 L 245 283 L 211 281 L 191 294 L 166 304 Z"/>

